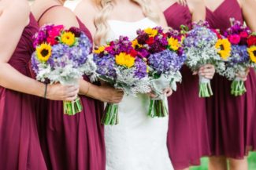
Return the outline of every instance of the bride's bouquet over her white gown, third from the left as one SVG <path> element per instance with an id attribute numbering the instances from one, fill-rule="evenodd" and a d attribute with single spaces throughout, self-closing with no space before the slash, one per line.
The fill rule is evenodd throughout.
<path id="1" fill-rule="evenodd" d="M 181 81 L 180 68 L 184 55 L 178 32 L 165 34 L 161 27 L 137 31 L 137 38 L 132 42 L 139 56 L 147 61 L 150 87 L 158 96 L 150 99 L 148 116 L 165 117 L 169 114 L 165 103 L 164 89 L 171 86 L 176 90 L 176 81 Z"/>

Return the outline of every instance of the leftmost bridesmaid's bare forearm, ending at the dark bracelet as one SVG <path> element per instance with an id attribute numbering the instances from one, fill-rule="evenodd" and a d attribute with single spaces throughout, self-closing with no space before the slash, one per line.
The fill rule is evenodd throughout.
<path id="1" fill-rule="evenodd" d="M 17 92 L 44 96 L 45 85 L 43 83 L 20 74 L 9 63 L 0 63 L 0 85 Z"/>

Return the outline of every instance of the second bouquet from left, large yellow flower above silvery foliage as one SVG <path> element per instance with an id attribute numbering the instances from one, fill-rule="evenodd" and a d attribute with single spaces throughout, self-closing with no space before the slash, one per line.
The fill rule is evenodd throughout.
<path id="1" fill-rule="evenodd" d="M 137 93 L 150 92 L 147 63 L 138 56 L 128 37 L 99 46 L 94 51 L 93 60 L 97 66 L 96 77 L 108 82 L 125 94 L 136 96 Z M 118 104 L 107 103 L 102 117 L 105 125 L 117 125 Z"/>

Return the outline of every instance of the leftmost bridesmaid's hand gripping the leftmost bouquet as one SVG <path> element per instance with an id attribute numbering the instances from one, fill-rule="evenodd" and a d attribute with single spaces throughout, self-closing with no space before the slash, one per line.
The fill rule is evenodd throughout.
<path id="1" fill-rule="evenodd" d="M 76 99 L 79 86 L 77 85 L 48 85 L 46 99 L 73 101 Z"/>

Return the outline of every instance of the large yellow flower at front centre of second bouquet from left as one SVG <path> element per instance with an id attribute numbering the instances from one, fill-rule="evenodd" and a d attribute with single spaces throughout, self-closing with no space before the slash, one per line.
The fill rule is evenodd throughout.
<path id="1" fill-rule="evenodd" d="M 134 66 L 135 58 L 129 54 L 121 52 L 120 54 L 118 54 L 116 56 L 116 63 L 118 65 L 130 68 L 130 67 Z"/>

